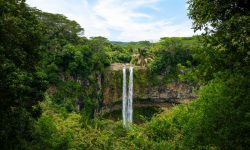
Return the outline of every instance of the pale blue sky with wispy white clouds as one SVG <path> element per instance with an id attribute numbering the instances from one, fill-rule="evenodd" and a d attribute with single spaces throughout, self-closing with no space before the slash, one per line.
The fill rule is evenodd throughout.
<path id="1" fill-rule="evenodd" d="M 110 41 L 157 41 L 192 36 L 186 0 L 26 0 L 31 7 L 63 14 L 84 28 L 86 37 Z"/>

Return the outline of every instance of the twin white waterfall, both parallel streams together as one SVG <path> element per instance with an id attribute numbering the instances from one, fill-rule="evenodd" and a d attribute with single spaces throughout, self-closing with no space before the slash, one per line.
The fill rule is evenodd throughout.
<path id="1" fill-rule="evenodd" d="M 123 125 L 128 127 L 133 121 L 133 66 L 129 66 L 129 85 L 127 93 L 126 65 L 123 66 L 122 86 L 122 119 Z"/>

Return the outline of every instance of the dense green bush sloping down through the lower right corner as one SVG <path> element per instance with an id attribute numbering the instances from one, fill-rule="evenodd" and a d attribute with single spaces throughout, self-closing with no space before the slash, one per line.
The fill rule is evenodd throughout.
<path id="1" fill-rule="evenodd" d="M 196 101 L 151 120 L 148 136 L 154 141 L 173 142 L 180 149 L 247 149 L 249 79 L 227 77 L 227 81 L 211 81 Z"/>

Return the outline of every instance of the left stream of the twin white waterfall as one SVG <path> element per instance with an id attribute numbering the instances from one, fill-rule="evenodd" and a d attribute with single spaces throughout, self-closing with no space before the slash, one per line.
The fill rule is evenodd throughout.
<path id="1" fill-rule="evenodd" d="M 123 85 L 122 85 L 122 119 L 123 125 L 127 126 L 127 87 L 126 87 L 126 66 L 122 68 L 123 72 Z"/>

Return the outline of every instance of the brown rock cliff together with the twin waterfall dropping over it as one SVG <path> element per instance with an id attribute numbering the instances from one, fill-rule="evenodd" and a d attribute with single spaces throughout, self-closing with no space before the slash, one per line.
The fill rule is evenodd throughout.
<path id="1" fill-rule="evenodd" d="M 126 66 L 129 66 L 129 69 Z M 128 78 L 126 69 L 130 72 L 129 82 L 126 80 Z M 98 114 L 104 116 L 111 114 L 111 118 L 115 120 L 121 119 L 120 116 L 122 116 L 125 126 L 128 122 L 132 122 L 132 108 L 139 113 L 144 109 L 159 113 L 161 110 L 170 109 L 176 104 L 194 98 L 192 87 L 186 83 L 179 81 L 164 83 L 161 76 L 151 77 L 145 67 L 130 67 L 130 64 L 122 63 L 111 64 L 106 70 L 102 82 L 102 93 L 103 104 Z M 133 107 L 131 94 L 134 99 Z M 113 112 L 118 114 L 114 117 Z M 138 118 L 138 114 L 135 113 L 133 117 Z"/>

